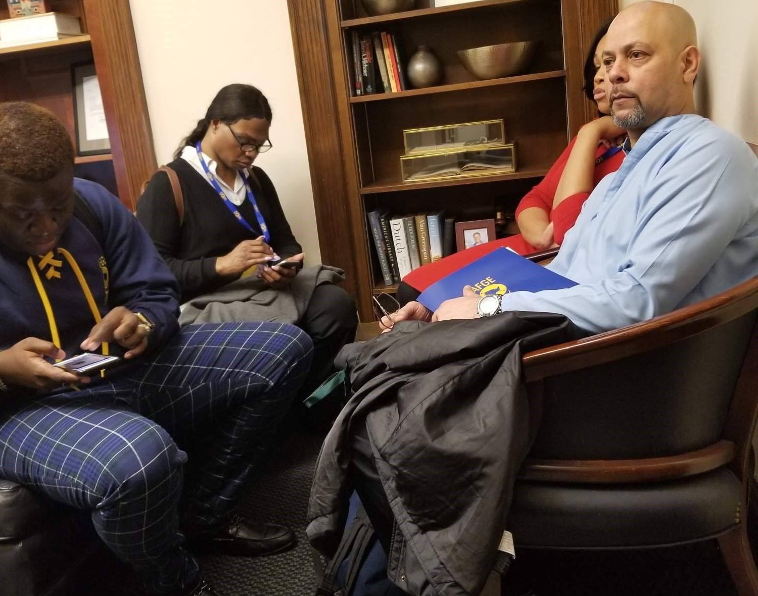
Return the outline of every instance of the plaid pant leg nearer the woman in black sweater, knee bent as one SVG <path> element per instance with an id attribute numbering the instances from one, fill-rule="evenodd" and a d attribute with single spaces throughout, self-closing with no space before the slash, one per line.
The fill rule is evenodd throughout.
<path id="1" fill-rule="evenodd" d="M 183 327 L 133 375 L 133 407 L 190 453 L 190 532 L 212 532 L 230 520 L 311 357 L 311 339 L 295 326 L 206 323 Z"/>

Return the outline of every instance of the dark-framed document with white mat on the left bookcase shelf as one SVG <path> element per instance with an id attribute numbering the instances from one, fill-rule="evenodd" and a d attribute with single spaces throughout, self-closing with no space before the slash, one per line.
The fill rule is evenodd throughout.
<path id="1" fill-rule="evenodd" d="M 77 155 L 99 155 L 111 152 L 108 124 L 102 105 L 100 84 L 95 64 L 72 64 L 74 88 L 74 129 L 77 137 Z"/>

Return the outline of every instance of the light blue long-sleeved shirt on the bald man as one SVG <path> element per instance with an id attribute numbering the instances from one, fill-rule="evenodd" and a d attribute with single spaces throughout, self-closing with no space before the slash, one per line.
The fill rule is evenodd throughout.
<path id="1" fill-rule="evenodd" d="M 616 329 L 758 275 L 758 160 L 695 114 L 662 118 L 603 178 L 548 268 L 578 286 L 503 296 L 501 310 Z"/>

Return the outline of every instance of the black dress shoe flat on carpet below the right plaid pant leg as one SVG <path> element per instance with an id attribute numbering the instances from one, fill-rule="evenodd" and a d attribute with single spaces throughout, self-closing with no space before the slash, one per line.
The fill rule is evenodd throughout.
<path id="1" fill-rule="evenodd" d="M 260 557 L 287 551 L 296 543 L 295 532 L 287 526 L 249 522 L 236 516 L 229 526 L 215 535 L 190 542 L 189 550 Z"/>

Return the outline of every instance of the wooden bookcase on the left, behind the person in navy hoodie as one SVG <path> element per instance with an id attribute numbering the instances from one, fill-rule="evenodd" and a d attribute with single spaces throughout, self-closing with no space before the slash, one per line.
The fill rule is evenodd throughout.
<path id="1" fill-rule="evenodd" d="M 155 171 L 150 122 L 128 0 L 52 0 L 52 10 L 80 17 L 83 34 L 0 49 L 0 101 L 33 101 L 74 135 L 72 64 L 94 62 L 111 153 L 75 159 L 77 176 L 94 179 L 133 209 Z M 8 18 L 5 2 L 0 18 Z"/>

